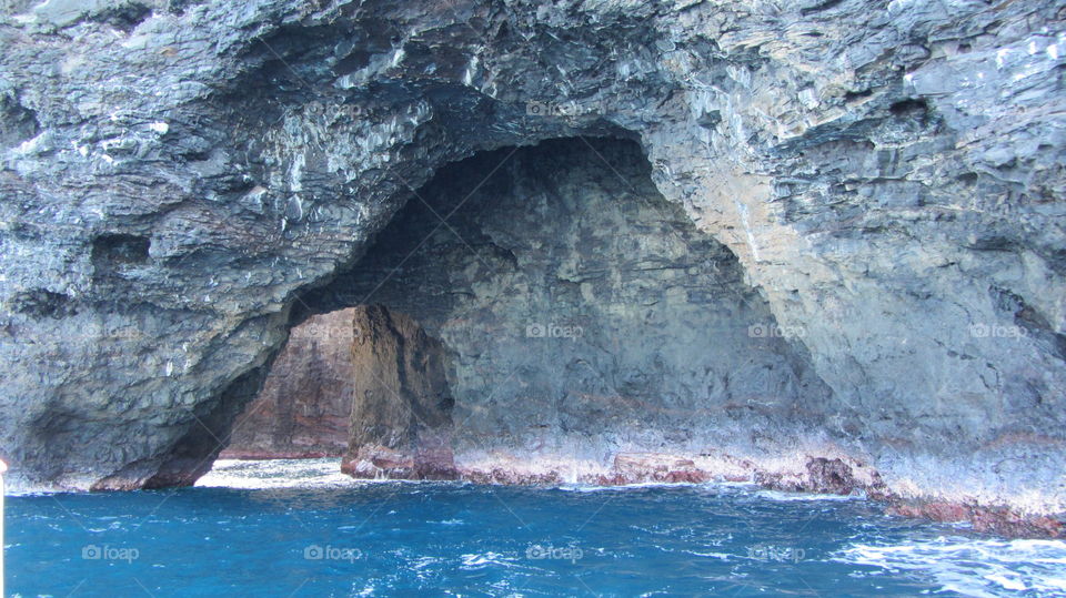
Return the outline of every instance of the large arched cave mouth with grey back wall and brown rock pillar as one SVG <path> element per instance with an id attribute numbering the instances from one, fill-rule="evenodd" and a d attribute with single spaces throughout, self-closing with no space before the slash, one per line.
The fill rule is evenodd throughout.
<path id="1" fill-rule="evenodd" d="M 331 387 L 354 393 L 346 442 L 330 398 L 311 412 L 329 425 L 306 429 L 328 432 L 331 455 L 346 446 L 358 477 L 595 482 L 660 469 L 627 455 L 706 455 L 803 425 L 828 391 L 802 344 L 651 170 L 633 141 L 579 138 L 438 171 L 298 302 L 295 322 L 343 317 L 363 334 L 343 342 L 372 357 L 352 353 L 338 374 L 352 386 Z"/>

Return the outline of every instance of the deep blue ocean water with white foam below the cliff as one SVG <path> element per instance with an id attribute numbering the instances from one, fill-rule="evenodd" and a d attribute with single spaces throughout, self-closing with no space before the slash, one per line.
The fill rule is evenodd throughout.
<path id="1" fill-rule="evenodd" d="M 14 596 L 1064 596 L 1066 543 L 747 487 L 356 483 L 220 462 L 202 486 L 9 497 Z"/>

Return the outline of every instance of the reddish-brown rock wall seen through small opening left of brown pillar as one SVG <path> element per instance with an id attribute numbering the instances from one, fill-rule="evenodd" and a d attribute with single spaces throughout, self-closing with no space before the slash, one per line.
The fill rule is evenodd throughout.
<path id="1" fill-rule="evenodd" d="M 355 395 L 352 345 L 358 308 L 308 318 L 292 328 L 263 388 L 233 426 L 222 458 L 341 456 Z"/>

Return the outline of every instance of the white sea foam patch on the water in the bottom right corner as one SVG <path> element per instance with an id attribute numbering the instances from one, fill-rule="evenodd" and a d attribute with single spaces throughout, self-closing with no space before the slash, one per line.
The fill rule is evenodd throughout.
<path id="1" fill-rule="evenodd" d="M 1066 543 L 945 538 L 874 546 L 855 544 L 834 560 L 911 571 L 941 591 L 996 597 L 1066 595 Z"/>

